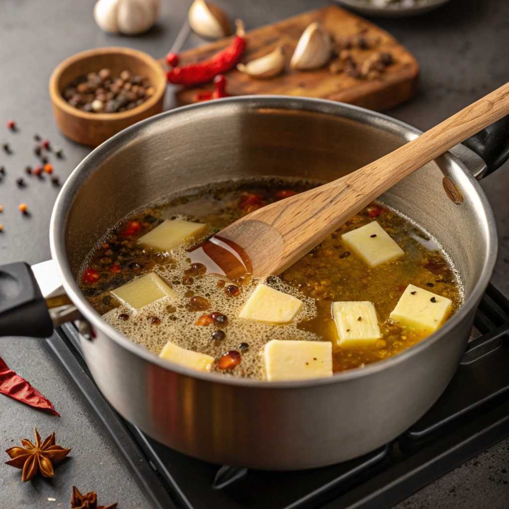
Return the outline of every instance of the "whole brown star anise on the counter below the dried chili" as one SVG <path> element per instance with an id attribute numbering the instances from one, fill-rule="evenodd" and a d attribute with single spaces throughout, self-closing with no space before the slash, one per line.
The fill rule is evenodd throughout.
<path id="1" fill-rule="evenodd" d="M 54 477 L 53 464 L 63 460 L 71 449 L 64 449 L 55 445 L 55 434 L 52 433 L 41 444 L 41 437 L 35 431 L 35 445 L 26 439 L 21 439 L 23 447 L 11 447 L 6 453 L 12 458 L 7 465 L 23 469 L 21 480 L 23 483 L 32 479 L 40 469 L 44 477 Z"/>

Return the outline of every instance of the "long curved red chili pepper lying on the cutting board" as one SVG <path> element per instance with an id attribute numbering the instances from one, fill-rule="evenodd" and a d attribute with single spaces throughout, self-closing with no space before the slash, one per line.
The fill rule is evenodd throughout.
<path id="1" fill-rule="evenodd" d="M 208 83 L 218 74 L 225 73 L 235 67 L 246 47 L 244 23 L 240 19 L 235 23 L 237 32 L 233 41 L 210 59 L 185 67 L 175 67 L 178 66 L 178 56 L 175 53 L 168 53 L 166 61 L 169 65 L 174 66 L 173 69 L 166 72 L 168 81 L 184 87 L 192 87 L 200 83 Z"/>

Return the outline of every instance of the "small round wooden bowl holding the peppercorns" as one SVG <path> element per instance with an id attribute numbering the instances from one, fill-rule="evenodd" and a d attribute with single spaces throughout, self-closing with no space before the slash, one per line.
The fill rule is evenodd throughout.
<path id="1" fill-rule="evenodd" d="M 108 68 L 112 76 L 128 70 L 147 78 L 155 92 L 147 101 L 120 113 L 93 113 L 70 104 L 62 92 L 78 76 Z M 162 111 L 166 75 L 152 56 L 130 48 L 97 48 L 83 51 L 64 60 L 51 74 L 49 95 L 53 115 L 60 130 L 75 142 L 97 147 L 122 129 Z"/>

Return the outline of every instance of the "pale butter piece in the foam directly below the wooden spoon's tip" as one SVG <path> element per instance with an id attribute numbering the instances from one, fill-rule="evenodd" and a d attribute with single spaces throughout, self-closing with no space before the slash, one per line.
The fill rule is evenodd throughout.
<path id="1" fill-rule="evenodd" d="M 288 323 L 302 307 L 302 301 L 261 283 L 247 299 L 239 317 L 258 322 Z"/>

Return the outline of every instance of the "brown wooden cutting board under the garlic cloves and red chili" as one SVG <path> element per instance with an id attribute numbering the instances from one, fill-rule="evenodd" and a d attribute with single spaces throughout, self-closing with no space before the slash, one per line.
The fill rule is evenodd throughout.
<path id="1" fill-rule="evenodd" d="M 363 35 L 366 38 L 379 38 L 380 44 L 375 51 L 390 52 L 394 63 L 386 68 L 379 79 L 373 80 L 354 78 L 344 72 L 331 74 L 328 66 L 314 71 L 290 69 L 290 59 L 297 41 L 305 27 L 313 21 L 320 21 L 336 39 L 362 31 L 365 31 Z M 209 58 L 227 46 L 230 40 L 221 39 L 182 52 L 179 55 L 181 65 Z M 283 74 L 270 79 L 254 79 L 234 69 L 225 75 L 228 80 L 227 92 L 233 96 L 280 94 L 319 97 L 377 111 L 406 101 L 415 93 L 419 65 L 412 53 L 380 27 L 339 7 L 330 6 L 306 12 L 248 32 L 242 62 L 263 56 L 278 45 L 285 48 L 287 63 Z M 354 48 L 351 51 L 354 60 L 362 62 L 373 49 Z M 196 102 L 197 93 L 211 89 L 212 86 L 208 85 L 181 90 L 177 92 L 177 102 L 179 105 L 191 104 Z"/>

